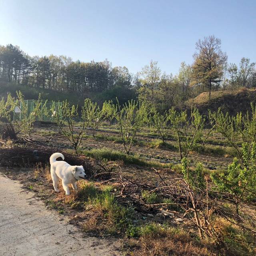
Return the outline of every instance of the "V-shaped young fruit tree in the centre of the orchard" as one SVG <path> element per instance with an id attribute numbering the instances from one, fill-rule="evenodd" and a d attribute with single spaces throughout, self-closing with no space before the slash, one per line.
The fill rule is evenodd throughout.
<path id="1" fill-rule="evenodd" d="M 117 105 L 112 105 L 113 113 L 116 113 L 115 118 L 120 128 L 126 154 L 130 154 L 136 133 L 147 121 L 146 106 L 144 103 L 131 100 L 121 108 L 118 99 L 116 100 Z"/>

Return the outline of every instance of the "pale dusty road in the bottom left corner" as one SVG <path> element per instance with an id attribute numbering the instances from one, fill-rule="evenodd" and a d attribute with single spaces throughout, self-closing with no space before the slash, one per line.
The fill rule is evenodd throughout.
<path id="1" fill-rule="evenodd" d="M 117 242 L 82 237 L 68 218 L 0 173 L 1 256 L 118 256 Z"/>

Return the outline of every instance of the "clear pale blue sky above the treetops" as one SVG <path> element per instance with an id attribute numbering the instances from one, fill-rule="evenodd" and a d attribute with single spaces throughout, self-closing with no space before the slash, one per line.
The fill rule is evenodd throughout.
<path id="1" fill-rule="evenodd" d="M 256 0 L 0 0 L 0 44 L 33 55 L 67 55 L 140 71 L 192 63 L 195 43 L 214 34 L 228 62 L 256 61 Z"/>

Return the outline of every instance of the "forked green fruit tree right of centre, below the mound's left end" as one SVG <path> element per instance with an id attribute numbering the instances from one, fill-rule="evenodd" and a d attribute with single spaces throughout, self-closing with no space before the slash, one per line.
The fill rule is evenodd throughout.
<path id="1" fill-rule="evenodd" d="M 197 108 L 191 110 L 190 117 L 185 111 L 178 112 L 174 108 L 169 110 L 170 124 L 176 132 L 180 151 L 180 160 L 187 157 L 190 149 L 202 136 L 204 117 Z"/>

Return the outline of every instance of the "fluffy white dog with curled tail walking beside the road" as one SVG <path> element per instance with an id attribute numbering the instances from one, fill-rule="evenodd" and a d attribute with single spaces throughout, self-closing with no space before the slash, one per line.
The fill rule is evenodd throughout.
<path id="1" fill-rule="evenodd" d="M 58 190 L 58 182 L 61 179 L 62 187 L 65 190 L 66 195 L 70 195 L 68 184 L 72 184 L 73 189 L 76 190 L 77 181 L 85 179 L 86 174 L 84 173 L 82 165 L 71 166 L 65 161 L 56 161 L 58 157 L 61 157 L 64 160 L 64 156 L 61 153 L 54 153 L 50 157 L 52 184 L 54 190 L 60 192 L 60 190 Z"/>

